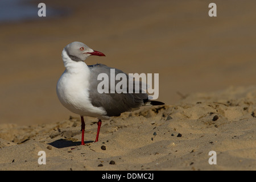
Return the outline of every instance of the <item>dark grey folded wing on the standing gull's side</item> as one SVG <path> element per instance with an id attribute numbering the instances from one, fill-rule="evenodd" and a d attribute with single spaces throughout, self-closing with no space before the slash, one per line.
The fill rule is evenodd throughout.
<path id="1" fill-rule="evenodd" d="M 131 111 L 137 109 L 144 104 L 143 101 L 148 99 L 147 93 L 110 93 L 110 68 L 104 64 L 95 64 L 88 66 L 91 69 L 90 74 L 90 89 L 89 89 L 89 98 L 93 106 L 104 107 L 108 116 L 118 116 L 125 111 Z M 106 73 L 109 76 L 109 92 L 108 93 L 99 93 L 97 88 L 98 84 L 102 80 L 97 80 L 100 73 Z M 118 73 L 123 73 L 119 69 L 115 69 L 115 75 Z M 126 74 L 127 85 L 126 88 L 129 88 L 128 75 Z M 119 81 L 115 80 L 115 85 Z M 134 88 L 134 86 L 133 86 Z M 141 89 L 140 89 L 141 90 Z"/>

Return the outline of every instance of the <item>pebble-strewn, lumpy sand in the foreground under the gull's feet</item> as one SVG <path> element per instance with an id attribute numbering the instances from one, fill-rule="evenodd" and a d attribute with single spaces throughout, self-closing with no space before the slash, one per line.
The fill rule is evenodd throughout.
<path id="1" fill-rule="evenodd" d="M 198 93 L 102 122 L 0 125 L 1 170 L 255 170 L 256 87 Z M 102 147 L 102 146 L 105 146 Z M 105 150 L 104 150 L 105 149 Z M 46 164 L 38 152 L 46 152 Z M 210 165 L 209 152 L 217 164 Z M 114 161 L 114 164 L 110 164 Z"/>

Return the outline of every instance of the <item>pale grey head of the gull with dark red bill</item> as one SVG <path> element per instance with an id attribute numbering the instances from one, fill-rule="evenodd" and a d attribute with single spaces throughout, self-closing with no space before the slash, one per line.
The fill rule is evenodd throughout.
<path id="1" fill-rule="evenodd" d="M 105 56 L 104 53 L 94 51 L 81 42 L 72 42 L 64 50 L 73 61 L 84 61 L 88 56 Z"/>

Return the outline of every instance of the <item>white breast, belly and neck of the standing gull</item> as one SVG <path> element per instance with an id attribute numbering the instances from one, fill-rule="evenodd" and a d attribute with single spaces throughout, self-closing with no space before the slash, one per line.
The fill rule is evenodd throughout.
<path id="1" fill-rule="evenodd" d="M 61 104 L 73 113 L 102 118 L 102 115 L 106 115 L 106 110 L 102 107 L 94 107 L 89 100 L 88 66 L 82 61 L 71 60 L 65 50 L 63 50 L 63 61 L 66 69 L 56 88 Z"/>

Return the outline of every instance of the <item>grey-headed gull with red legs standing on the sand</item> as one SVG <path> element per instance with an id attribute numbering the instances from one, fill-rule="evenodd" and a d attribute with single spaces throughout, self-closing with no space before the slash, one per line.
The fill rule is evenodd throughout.
<path id="1" fill-rule="evenodd" d="M 56 92 L 61 104 L 81 117 L 81 145 L 84 145 L 84 116 L 98 118 L 95 142 L 98 142 L 101 119 L 117 117 L 125 111 L 133 111 L 144 105 L 163 105 L 163 102 L 151 101 L 147 93 L 99 93 L 98 75 L 110 75 L 110 68 L 104 64 L 87 65 L 89 56 L 105 56 L 81 42 L 72 42 L 64 47 L 62 59 L 64 73 L 57 81 Z M 123 73 L 115 69 L 115 73 Z M 125 74 L 125 73 L 124 73 Z M 127 74 L 126 74 L 127 75 Z M 116 82 L 115 82 L 116 83 Z M 140 89 L 142 91 L 142 89 Z"/>

